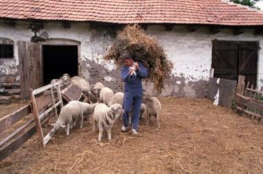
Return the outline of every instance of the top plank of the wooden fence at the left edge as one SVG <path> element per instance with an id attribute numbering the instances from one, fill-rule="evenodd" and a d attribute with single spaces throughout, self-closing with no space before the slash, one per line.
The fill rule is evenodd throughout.
<path id="1" fill-rule="evenodd" d="M 10 113 L 8 116 L 5 116 L 0 119 L 0 133 L 4 130 L 8 129 L 11 125 L 15 124 L 15 122 L 24 118 L 28 114 L 31 113 L 31 104 L 27 104 L 17 111 Z"/>

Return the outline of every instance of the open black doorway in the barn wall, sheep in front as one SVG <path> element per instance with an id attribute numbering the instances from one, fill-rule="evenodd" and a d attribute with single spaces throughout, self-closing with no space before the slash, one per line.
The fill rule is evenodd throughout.
<path id="1" fill-rule="evenodd" d="M 43 45 L 43 82 L 50 84 L 62 74 L 78 75 L 78 46 Z"/>

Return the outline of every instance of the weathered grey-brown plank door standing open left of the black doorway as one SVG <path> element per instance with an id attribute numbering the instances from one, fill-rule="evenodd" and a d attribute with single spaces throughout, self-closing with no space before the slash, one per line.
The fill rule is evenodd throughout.
<path id="1" fill-rule="evenodd" d="M 18 41 L 17 48 L 22 100 L 29 100 L 29 89 L 42 86 L 40 78 L 40 44 Z"/>

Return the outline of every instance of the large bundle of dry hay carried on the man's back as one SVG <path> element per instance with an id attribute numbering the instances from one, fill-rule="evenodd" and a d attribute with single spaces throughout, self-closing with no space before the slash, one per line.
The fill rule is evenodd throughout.
<path id="1" fill-rule="evenodd" d="M 149 70 L 148 81 L 153 82 L 158 93 L 164 88 L 164 80 L 169 77 L 173 64 L 168 60 L 161 45 L 149 35 L 146 35 L 138 25 L 126 26 L 117 35 L 108 52 L 103 56 L 105 60 L 113 60 L 117 67 L 122 66 L 121 54 L 129 52 L 135 61 L 142 61 Z"/>

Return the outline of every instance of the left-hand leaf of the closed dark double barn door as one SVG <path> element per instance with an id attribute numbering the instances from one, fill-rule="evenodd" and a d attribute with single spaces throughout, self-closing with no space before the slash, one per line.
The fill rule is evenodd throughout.
<path id="1" fill-rule="evenodd" d="M 213 40 L 212 68 L 214 77 L 237 80 L 238 44 L 236 41 Z"/>

